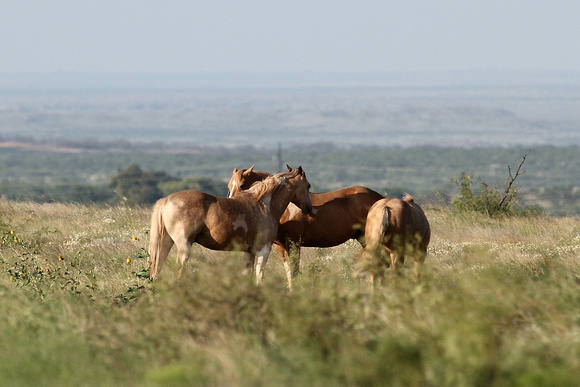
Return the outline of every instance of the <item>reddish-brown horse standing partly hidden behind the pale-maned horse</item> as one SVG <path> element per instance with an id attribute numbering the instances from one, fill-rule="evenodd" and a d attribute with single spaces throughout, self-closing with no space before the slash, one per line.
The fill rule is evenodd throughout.
<path id="1" fill-rule="evenodd" d="M 234 169 L 228 183 L 229 197 L 248 189 L 253 183 L 269 176 L 267 172 Z M 325 193 L 312 193 L 312 213 L 301 214 L 290 204 L 280 218 L 280 228 L 274 240 L 274 250 L 288 264 L 290 246 L 294 245 L 300 258 L 300 246 L 331 247 L 358 239 L 362 243 L 367 213 L 383 196 L 369 188 L 352 186 Z M 292 276 L 298 272 L 300 261 L 292 268 Z M 291 280 L 291 277 L 288 278 Z"/>

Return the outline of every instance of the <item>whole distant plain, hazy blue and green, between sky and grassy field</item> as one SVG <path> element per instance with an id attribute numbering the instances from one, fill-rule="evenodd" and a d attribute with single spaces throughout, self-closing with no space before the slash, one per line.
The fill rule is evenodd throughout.
<path id="1" fill-rule="evenodd" d="M 0 75 L 0 195 L 19 181 L 102 185 L 129 164 L 227 181 L 284 163 L 319 192 L 431 195 L 461 171 L 501 184 L 531 150 L 527 197 L 569 213 L 579 129 L 577 74 Z"/>

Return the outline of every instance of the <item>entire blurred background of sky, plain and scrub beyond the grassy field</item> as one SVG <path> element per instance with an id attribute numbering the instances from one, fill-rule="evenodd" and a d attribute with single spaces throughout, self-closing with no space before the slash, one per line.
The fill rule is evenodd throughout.
<path id="1" fill-rule="evenodd" d="M 11 2 L 0 196 L 147 205 L 302 165 L 422 201 L 463 171 L 580 209 L 572 1 Z"/>

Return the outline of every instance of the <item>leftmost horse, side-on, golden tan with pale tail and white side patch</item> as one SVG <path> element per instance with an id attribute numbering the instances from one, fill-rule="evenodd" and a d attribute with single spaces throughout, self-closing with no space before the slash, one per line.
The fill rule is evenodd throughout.
<path id="1" fill-rule="evenodd" d="M 305 214 L 312 211 L 310 183 L 302 167 L 288 170 L 255 184 L 235 198 L 191 190 L 157 201 L 151 216 L 149 278 L 157 277 L 174 243 L 177 261 L 183 268 L 192 244 L 197 242 L 212 250 L 243 251 L 250 270 L 254 270 L 257 257 L 259 283 L 280 217 L 288 204 L 296 204 Z"/>

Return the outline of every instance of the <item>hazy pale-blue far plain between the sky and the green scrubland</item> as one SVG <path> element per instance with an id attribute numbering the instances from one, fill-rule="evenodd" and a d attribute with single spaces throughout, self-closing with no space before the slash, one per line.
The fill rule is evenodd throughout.
<path id="1" fill-rule="evenodd" d="M 406 74 L 348 81 L 310 75 L 220 83 L 87 75 L 71 84 L 53 75 L 45 77 L 52 83 L 32 78 L 31 85 L 22 78 L 0 77 L 3 141 L 89 138 L 229 148 L 580 144 L 574 76 Z"/>

